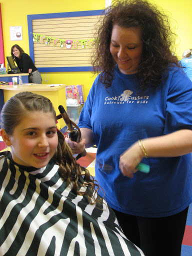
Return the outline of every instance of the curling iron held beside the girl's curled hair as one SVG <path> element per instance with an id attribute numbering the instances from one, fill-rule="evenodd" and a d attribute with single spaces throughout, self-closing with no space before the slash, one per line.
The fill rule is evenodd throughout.
<path id="1" fill-rule="evenodd" d="M 68 137 L 75 141 L 75 142 L 79 142 L 81 139 L 81 132 L 80 129 L 78 128 L 78 126 L 76 125 L 76 123 L 74 123 L 73 121 L 70 120 L 70 118 L 68 117 L 66 111 L 64 110 L 64 107 L 62 105 L 58 106 L 58 110 L 60 112 L 60 114 L 58 114 L 56 116 L 56 119 L 60 119 L 63 118 L 64 122 L 66 123 L 67 129 L 69 130 L 68 132 Z M 74 129 L 74 127 L 76 129 Z M 81 156 L 85 156 L 86 155 L 86 150 L 84 149 L 81 153 L 79 153 L 75 159 L 77 160 L 78 158 L 80 158 Z"/>

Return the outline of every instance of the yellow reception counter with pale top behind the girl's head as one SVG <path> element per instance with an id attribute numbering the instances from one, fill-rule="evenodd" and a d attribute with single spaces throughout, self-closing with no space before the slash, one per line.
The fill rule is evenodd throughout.
<path id="1" fill-rule="evenodd" d="M 4 101 L 0 102 L 2 106 L 10 97 L 21 91 L 31 91 L 49 98 L 54 106 L 56 115 L 59 114 L 58 106 L 62 105 L 66 110 L 66 84 L 36 84 L 36 83 L 23 83 L 17 84 L 17 87 L 13 85 L 0 85 L 0 92 L 3 92 Z M 2 108 L 2 107 L 1 107 Z M 65 126 L 64 120 L 59 119 L 57 123 L 58 129 L 62 129 Z"/>

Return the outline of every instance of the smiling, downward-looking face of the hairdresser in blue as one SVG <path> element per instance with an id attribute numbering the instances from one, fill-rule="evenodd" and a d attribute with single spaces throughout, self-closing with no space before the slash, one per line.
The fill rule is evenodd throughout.
<path id="1" fill-rule="evenodd" d="M 110 53 L 121 73 L 136 73 L 142 54 L 140 29 L 114 25 L 110 40 Z"/>

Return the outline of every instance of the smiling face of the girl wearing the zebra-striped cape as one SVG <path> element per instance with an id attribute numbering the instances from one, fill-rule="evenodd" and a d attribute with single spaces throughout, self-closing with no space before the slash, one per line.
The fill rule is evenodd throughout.
<path id="1" fill-rule="evenodd" d="M 54 155 L 58 137 L 51 112 L 27 111 L 8 136 L 14 162 L 36 168 L 44 167 Z"/>

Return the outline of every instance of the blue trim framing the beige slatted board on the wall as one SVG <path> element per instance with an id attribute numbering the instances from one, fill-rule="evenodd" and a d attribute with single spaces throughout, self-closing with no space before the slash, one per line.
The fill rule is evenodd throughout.
<path id="1" fill-rule="evenodd" d="M 79 16 L 93 16 L 104 14 L 104 10 L 84 10 L 72 12 L 58 12 L 58 13 L 43 13 L 27 15 L 28 23 L 28 42 L 29 42 L 29 55 L 34 62 L 34 48 L 33 48 L 33 35 L 32 35 L 32 20 L 43 18 L 60 18 L 60 17 L 79 17 Z M 70 72 L 70 71 L 91 71 L 91 66 L 73 66 L 73 67 L 39 67 L 39 72 Z"/>

